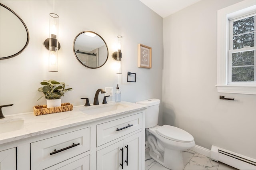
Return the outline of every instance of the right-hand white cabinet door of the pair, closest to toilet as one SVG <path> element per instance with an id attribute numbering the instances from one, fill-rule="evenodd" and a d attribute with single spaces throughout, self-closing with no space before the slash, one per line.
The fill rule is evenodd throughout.
<path id="1" fill-rule="evenodd" d="M 142 132 L 124 139 L 124 170 L 142 170 Z"/>

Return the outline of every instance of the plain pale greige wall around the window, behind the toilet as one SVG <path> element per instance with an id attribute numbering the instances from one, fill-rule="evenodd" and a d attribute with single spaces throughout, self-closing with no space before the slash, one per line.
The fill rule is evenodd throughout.
<path id="1" fill-rule="evenodd" d="M 256 158 L 256 96 L 215 87 L 217 10 L 240 1 L 202 0 L 164 18 L 163 123 L 188 131 L 199 146 Z"/>

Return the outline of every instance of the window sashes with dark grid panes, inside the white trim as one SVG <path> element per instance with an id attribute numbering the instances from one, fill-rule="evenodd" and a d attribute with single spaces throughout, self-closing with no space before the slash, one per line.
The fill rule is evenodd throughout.
<path id="1" fill-rule="evenodd" d="M 228 84 L 256 82 L 254 16 L 242 16 L 229 22 Z"/>

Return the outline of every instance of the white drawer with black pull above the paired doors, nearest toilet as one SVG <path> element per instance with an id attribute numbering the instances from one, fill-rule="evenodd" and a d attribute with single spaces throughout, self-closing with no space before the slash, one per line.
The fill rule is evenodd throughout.
<path id="1" fill-rule="evenodd" d="M 97 147 L 142 128 L 142 113 L 97 125 Z"/>

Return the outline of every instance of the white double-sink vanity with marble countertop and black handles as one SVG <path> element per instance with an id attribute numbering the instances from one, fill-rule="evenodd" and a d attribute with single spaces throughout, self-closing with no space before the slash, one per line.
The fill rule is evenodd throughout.
<path id="1" fill-rule="evenodd" d="M 144 170 L 146 108 L 121 101 L 16 115 L 24 127 L 0 134 L 0 170 Z"/>

